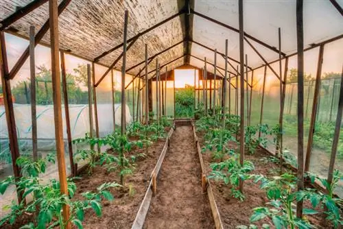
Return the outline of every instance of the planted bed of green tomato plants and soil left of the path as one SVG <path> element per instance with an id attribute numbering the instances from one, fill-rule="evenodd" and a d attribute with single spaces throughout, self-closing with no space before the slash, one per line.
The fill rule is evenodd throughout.
<path id="1" fill-rule="evenodd" d="M 33 160 L 21 156 L 16 165 L 21 178 L 13 176 L 0 182 L 0 193 L 10 186 L 23 197 L 12 202 L 10 214 L 1 219 L 3 228 L 130 228 L 139 211 L 145 191 L 150 190 L 151 174 L 156 173 L 156 162 L 165 152 L 172 130 L 170 122 L 161 118 L 150 125 L 130 123 L 126 134 L 113 132 L 103 138 L 88 134 L 73 144 L 78 148 L 73 155 L 79 169 L 78 177 L 67 180 L 69 195 L 60 193 L 60 182 L 41 177 L 55 155 Z M 163 140 L 164 139 L 164 140 Z M 154 169 L 155 167 L 155 169 Z M 161 165 L 160 165 L 161 167 Z M 69 221 L 62 219 L 62 208 L 67 206 Z M 99 217 L 102 217 L 99 220 Z"/>

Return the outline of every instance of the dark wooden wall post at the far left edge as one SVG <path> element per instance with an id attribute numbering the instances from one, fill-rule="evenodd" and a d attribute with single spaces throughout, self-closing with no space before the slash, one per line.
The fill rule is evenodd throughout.
<path id="1" fill-rule="evenodd" d="M 16 159 L 19 158 L 19 145 L 18 145 L 18 137 L 16 135 L 16 120 L 14 118 L 14 109 L 13 109 L 13 101 L 12 101 L 12 91 L 11 91 L 11 84 L 10 80 L 5 80 L 9 77 L 8 72 L 8 59 L 7 59 L 7 52 L 5 46 L 5 36 L 2 31 L 0 31 L 0 65 L 1 65 L 1 85 L 3 91 L 3 104 L 5 105 L 5 115 L 6 115 L 6 122 L 8 128 L 8 138 L 9 138 L 9 147 L 12 157 L 12 167 L 14 178 L 18 181 L 21 177 L 21 169 L 18 165 L 16 165 Z M 23 200 L 23 193 L 17 191 L 18 202 L 21 203 Z"/>

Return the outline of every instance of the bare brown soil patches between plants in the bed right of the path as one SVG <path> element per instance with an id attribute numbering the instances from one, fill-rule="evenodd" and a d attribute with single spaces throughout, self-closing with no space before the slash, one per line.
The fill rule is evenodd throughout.
<path id="1" fill-rule="evenodd" d="M 203 147 L 203 133 L 197 132 L 197 135 L 200 147 Z M 237 147 L 235 143 L 233 143 L 232 146 Z M 268 177 L 277 176 L 279 174 L 279 165 L 270 161 L 264 162 L 261 160 L 262 158 L 268 158 L 269 156 L 270 154 L 268 154 L 265 149 L 258 147 L 255 154 L 245 154 L 245 160 L 250 160 L 255 165 L 255 170 L 252 173 L 263 174 Z M 209 173 L 211 173 L 211 154 L 207 152 L 206 154 L 202 154 L 202 157 L 204 159 L 206 175 L 208 176 Z M 250 180 L 244 182 L 245 200 L 243 202 L 230 196 L 230 186 L 224 184 L 224 182 L 213 180 L 211 186 L 224 228 L 231 229 L 236 228 L 239 225 L 249 226 L 250 216 L 253 213 L 252 209 L 258 206 L 266 206 L 266 203 L 269 202 L 265 195 L 265 191 L 259 189 L 259 184 L 255 184 Z M 304 208 L 311 208 L 311 204 L 304 202 Z M 332 228 L 332 226 L 327 224 L 327 221 L 324 221 L 325 216 L 323 213 L 307 215 L 306 217 L 311 224 L 315 225 L 317 228 Z M 262 224 L 273 225 L 267 218 L 254 222 L 254 224 L 257 225 L 258 228 L 261 228 Z"/>

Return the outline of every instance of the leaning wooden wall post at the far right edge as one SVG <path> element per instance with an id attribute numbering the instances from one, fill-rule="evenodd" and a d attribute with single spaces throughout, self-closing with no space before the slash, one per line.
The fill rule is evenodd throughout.
<path id="1" fill-rule="evenodd" d="M 341 73 L 341 84 L 340 84 L 340 99 L 338 101 L 337 118 L 335 124 L 335 134 L 333 134 L 333 142 L 331 148 L 331 158 L 329 164 L 329 174 L 327 176 L 327 182 L 332 183 L 333 180 L 333 169 L 335 167 L 335 158 L 337 154 L 338 141 L 340 141 L 340 126 L 342 123 L 342 110 L 343 110 L 343 68 Z"/>

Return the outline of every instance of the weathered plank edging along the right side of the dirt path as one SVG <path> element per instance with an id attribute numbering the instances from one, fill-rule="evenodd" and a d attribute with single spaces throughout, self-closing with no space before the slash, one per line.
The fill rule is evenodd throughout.
<path id="1" fill-rule="evenodd" d="M 201 166 L 202 178 L 203 178 L 204 176 L 206 176 L 206 172 L 204 170 L 205 169 L 204 168 L 204 160 L 202 160 L 200 143 L 198 141 L 198 136 L 196 135 L 196 126 L 194 125 L 193 121 L 191 122 L 191 125 L 193 127 L 194 142 L 196 143 L 196 148 L 197 148 L 199 159 L 200 159 L 200 166 Z M 206 189 L 207 195 L 209 197 L 212 215 L 213 215 L 213 219 L 215 221 L 215 228 L 223 229 L 224 227 L 222 224 L 222 219 L 220 218 L 220 213 L 219 213 L 219 210 L 217 208 L 217 204 L 215 203 L 215 197 L 214 197 L 213 191 L 211 189 L 211 182 L 206 178 L 206 184 L 203 184 L 203 185 L 206 185 L 205 189 Z"/>

